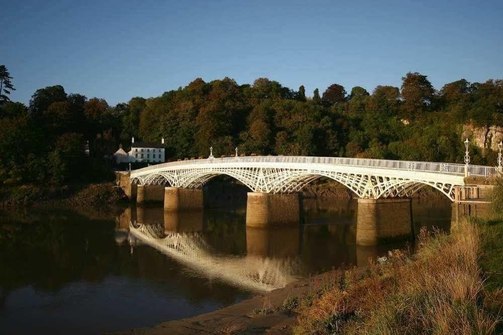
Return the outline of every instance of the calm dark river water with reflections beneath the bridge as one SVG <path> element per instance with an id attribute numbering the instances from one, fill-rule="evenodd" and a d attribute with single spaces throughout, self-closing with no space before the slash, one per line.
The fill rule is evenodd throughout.
<path id="1" fill-rule="evenodd" d="M 100 333 L 189 317 L 404 244 L 355 244 L 355 200 L 304 200 L 304 224 L 250 229 L 246 204 L 165 215 L 0 213 L 0 333 Z M 414 229 L 451 203 L 413 200 Z M 130 225 L 130 223 L 132 224 Z"/>

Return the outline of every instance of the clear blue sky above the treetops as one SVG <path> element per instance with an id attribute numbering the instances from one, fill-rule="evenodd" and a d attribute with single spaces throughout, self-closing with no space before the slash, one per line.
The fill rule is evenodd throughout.
<path id="1" fill-rule="evenodd" d="M 297 90 L 372 91 L 407 72 L 433 85 L 503 78 L 503 1 L 5 1 L 0 64 L 28 103 L 39 88 L 159 96 L 259 77 Z"/>

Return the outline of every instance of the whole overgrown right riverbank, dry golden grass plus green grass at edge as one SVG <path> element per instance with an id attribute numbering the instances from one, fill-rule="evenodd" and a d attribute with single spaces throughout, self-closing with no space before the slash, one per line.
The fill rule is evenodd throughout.
<path id="1" fill-rule="evenodd" d="M 394 250 L 361 277 L 341 271 L 287 298 L 282 308 L 299 313 L 294 333 L 502 333 L 501 181 L 493 209 L 489 219 L 461 220 L 451 234 L 423 228 L 413 254 Z"/>

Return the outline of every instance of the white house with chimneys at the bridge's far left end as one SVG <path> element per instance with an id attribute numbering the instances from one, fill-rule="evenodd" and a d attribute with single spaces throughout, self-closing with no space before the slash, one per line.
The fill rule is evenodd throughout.
<path id="1" fill-rule="evenodd" d="M 131 151 L 126 153 L 119 146 L 119 150 L 113 154 L 117 163 L 123 162 L 148 162 L 148 163 L 164 163 L 164 138 L 161 143 L 134 142 L 134 137 L 131 139 Z"/>

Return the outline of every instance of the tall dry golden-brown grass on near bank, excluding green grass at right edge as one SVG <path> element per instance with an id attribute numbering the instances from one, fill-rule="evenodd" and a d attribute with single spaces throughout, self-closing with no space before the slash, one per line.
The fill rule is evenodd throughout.
<path id="1" fill-rule="evenodd" d="M 500 311 L 485 308 L 494 296 L 478 265 L 480 236 L 467 220 L 450 235 L 421 230 L 413 256 L 395 250 L 364 278 L 327 290 L 300 311 L 295 333 L 493 333 Z"/>

